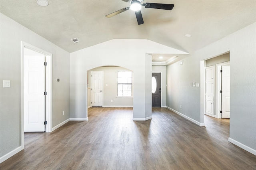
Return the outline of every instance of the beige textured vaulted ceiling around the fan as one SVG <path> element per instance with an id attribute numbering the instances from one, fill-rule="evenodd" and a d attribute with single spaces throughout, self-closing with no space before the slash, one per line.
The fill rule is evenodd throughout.
<path id="1" fill-rule="evenodd" d="M 130 5 L 122 0 L 48 1 L 41 7 L 36 0 L 0 0 L 0 12 L 68 52 L 112 39 L 147 39 L 191 53 L 256 22 L 256 0 L 145 0 L 174 8 L 142 7 L 142 25 L 131 10 L 105 17 Z"/>

